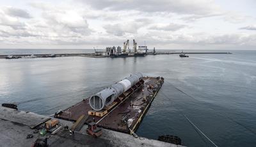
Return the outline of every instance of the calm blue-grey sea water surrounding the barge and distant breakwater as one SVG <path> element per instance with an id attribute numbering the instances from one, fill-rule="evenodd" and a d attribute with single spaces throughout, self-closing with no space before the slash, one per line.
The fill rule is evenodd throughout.
<path id="1" fill-rule="evenodd" d="M 0 50 L 0 54 L 12 52 L 92 50 Z M 256 52 L 232 52 L 184 59 L 178 55 L 0 59 L 0 103 L 16 102 L 19 109 L 51 115 L 140 71 L 165 81 L 137 131 L 139 136 L 157 139 L 173 134 L 186 146 L 212 146 L 186 115 L 218 146 L 255 146 Z"/>

